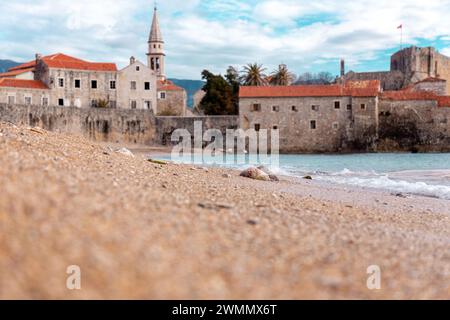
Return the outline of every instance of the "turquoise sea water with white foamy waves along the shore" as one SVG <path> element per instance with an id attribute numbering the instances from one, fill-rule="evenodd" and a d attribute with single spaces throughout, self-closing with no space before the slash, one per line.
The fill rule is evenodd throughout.
<path id="1" fill-rule="evenodd" d="M 204 160 L 205 165 L 211 163 L 210 159 Z M 215 165 L 241 169 L 257 164 L 236 165 L 219 162 Z M 333 184 L 450 200 L 450 153 L 280 155 L 279 164 L 271 166 L 271 169 L 279 175 L 297 178 L 309 175 L 314 180 Z"/>

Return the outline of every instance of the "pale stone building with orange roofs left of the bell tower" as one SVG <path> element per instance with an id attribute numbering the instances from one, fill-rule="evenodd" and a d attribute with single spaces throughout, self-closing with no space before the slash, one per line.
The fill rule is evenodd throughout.
<path id="1" fill-rule="evenodd" d="M 134 58 L 118 71 L 114 63 L 88 62 L 62 53 L 36 54 L 35 60 L 11 68 L 0 79 L 0 102 L 157 112 L 156 75 Z M 30 88 L 40 90 L 33 91 L 31 102 Z"/>

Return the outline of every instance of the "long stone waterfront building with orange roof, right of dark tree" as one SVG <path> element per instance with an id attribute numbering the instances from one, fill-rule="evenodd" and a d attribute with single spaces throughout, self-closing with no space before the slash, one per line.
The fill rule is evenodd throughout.
<path id="1" fill-rule="evenodd" d="M 279 130 L 280 151 L 370 148 L 377 136 L 379 81 L 241 87 L 242 129 Z"/>

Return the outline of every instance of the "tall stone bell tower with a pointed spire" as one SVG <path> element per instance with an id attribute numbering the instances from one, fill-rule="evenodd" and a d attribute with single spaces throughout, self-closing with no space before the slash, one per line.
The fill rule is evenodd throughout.
<path id="1" fill-rule="evenodd" d="M 158 80 L 166 80 L 164 69 L 164 40 L 159 27 L 158 10 L 155 7 L 153 12 L 152 29 L 148 39 L 148 67 L 156 72 Z"/>

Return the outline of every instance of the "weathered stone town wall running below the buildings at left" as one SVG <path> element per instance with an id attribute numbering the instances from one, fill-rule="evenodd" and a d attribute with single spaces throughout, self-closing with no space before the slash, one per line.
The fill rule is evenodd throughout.
<path id="1" fill-rule="evenodd" d="M 176 129 L 194 134 L 194 123 L 201 121 L 203 131 L 237 129 L 238 116 L 155 117 L 151 111 L 137 109 L 68 108 L 0 103 L 0 121 L 38 126 L 49 131 L 83 135 L 94 141 L 171 144 Z"/>

